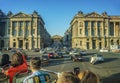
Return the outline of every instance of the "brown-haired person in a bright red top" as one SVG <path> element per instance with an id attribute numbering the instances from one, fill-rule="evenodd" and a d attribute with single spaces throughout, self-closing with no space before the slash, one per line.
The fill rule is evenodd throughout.
<path id="1" fill-rule="evenodd" d="M 27 69 L 28 69 L 27 63 L 24 60 L 24 57 L 22 56 L 22 54 L 14 53 L 12 55 L 11 65 L 7 70 L 4 70 L 4 74 L 10 77 L 10 83 L 12 83 L 13 77 L 17 72 L 20 72 L 22 70 L 27 71 Z"/>

